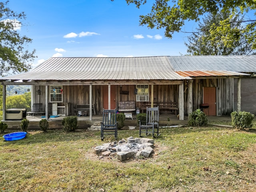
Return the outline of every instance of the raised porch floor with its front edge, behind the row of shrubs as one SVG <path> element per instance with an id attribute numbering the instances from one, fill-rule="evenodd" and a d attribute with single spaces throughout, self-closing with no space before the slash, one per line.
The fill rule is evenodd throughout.
<path id="1" fill-rule="evenodd" d="M 48 122 L 50 128 L 60 129 L 62 128 L 62 119 L 65 116 L 59 116 L 55 118 L 49 118 Z M 207 116 L 209 121 L 231 121 L 231 116 Z M 42 116 L 26 116 L 30 121 L 29 129 L 39 129 L 39 121 L 44 119 Z M 124 121 L 124 126 L 137 126 L 136 114 L 132 114 L 132 118 L 126 118 Z M 184 120 L 179 120 L 178 117 L 174 114 L 160 114 L 159 115 L 159 124 L 160 126 L 167 126 L 167 119 L 170 118 L 171 125 L 186 125 L 188 124 L 188 116 L 184 116 Z M 100 125 L 102 121 L 102 115 L 93 115 L 92 120 L 89 116 L 78 116 L 78 128 L 88 128 L 92 125 Z M 16 129 L 20 126 L 21 120 L 6 120 L 8 128 Z"/>

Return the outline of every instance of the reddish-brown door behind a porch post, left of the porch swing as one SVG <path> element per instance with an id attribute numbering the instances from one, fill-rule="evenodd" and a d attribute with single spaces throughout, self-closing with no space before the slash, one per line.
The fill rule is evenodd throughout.
<path id="1" fill-rule="evenodd" d="M 103 86 L 103 108 L 108 108 L 108 86 Z M 116 86 L 110 86 L 110 109 L 116 108 Z"/>

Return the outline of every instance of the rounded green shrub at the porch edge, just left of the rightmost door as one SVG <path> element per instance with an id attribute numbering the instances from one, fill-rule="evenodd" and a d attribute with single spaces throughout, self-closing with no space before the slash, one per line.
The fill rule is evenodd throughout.
<path id="1" fill-rule="evenodd" d="M 207 124 L 207 116 L 200 109 L 193 111 L 188 117 L 188 126 L 204 126 Z"/>

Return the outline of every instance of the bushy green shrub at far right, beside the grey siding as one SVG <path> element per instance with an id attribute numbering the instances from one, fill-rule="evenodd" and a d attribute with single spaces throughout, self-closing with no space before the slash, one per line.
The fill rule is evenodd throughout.
<path id="1" fill-rule="evenodd" d="M 231 113 L 232 126 L 236 130 L 251 128 L 253 118 L 254 114 L 245 111 L 240 111 L 239 113 L 234 111 Z"/>

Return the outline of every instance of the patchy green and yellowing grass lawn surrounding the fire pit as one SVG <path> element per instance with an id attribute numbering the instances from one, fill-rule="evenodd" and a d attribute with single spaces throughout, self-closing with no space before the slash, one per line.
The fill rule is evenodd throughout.
<path id="1" fill-rule="evenodd" d="M 14 132 L 17 130 L 7 130 Z M 30 131 L 0 138 L 0 191 L 4 192 L 254 192 L 256 131 L 215 126 L 161 128 L 152 157 L 100 158 L 100 131 Z M 118 130 L 118 140 L 138 130 Z M 151 137 L 149 137 L 151 138 Z"/>

